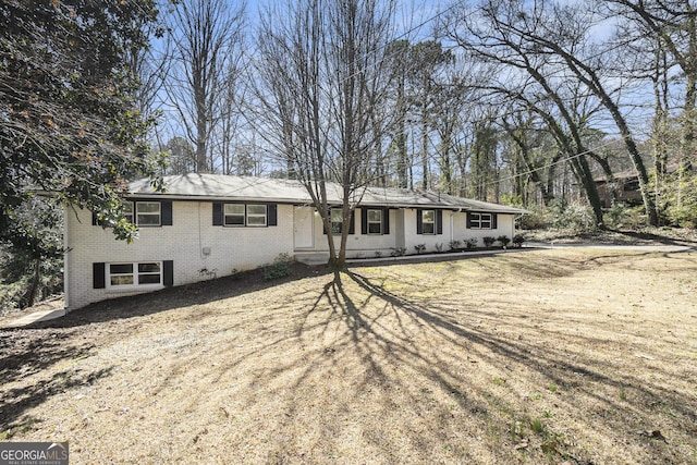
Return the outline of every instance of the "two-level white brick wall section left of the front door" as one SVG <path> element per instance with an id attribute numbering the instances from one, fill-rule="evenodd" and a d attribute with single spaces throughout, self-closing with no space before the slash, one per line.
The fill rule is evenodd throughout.
<path id="1" fill-rule="evenodd" d="M 117 241 L 93 225 L 91 212 L 65 215 L 65 305 L 69 310 L 143 289 L 94 289 L 93 264 L 173 260 L 173 284 L 186 284 L 231 274 L 233 270 L 272 262 L 279 254 L 293 254 L 293 207 L 278 205 L 278 225 L 223 228 L 212 225 L 212 203 L 173 201 L 172 225 L 140 228 L 131 244 Z M 206 253 L 205 253 L 206 252 Z M 207 270 L 205 272 L 204 270 Z"/>

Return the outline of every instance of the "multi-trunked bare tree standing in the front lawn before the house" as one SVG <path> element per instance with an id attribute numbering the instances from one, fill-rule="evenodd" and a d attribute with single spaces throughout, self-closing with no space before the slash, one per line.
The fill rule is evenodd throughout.
<path id="1" fill-rule="evenodd" d="M 334 269 L 345 265 L 351 217 L 376 178 L 388 126 L 375 112 L 389 89 L 393 9 L 393 1 L 288 1 L 267 10 L 259 32 L 259 118 L 321 216 Z M 340 207 L 329 204 L 328 182 L 340 186 Z"/>

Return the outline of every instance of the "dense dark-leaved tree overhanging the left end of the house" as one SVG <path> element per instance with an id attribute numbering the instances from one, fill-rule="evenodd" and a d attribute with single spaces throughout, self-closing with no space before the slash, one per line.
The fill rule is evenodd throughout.
<path id="1" fill-rule="evenodd" d="M 34 224 L 37 193 L 98 211 L 130 240 L 126 180 L 155 174 L 127 56 L 147 48 L 155 2 L 36 0 L 0 3 L 0 242 L 35 260 L 62 254 Z M 158 184 L 158 183 L 156 183 Z M 159 186 L 161 187 L 161 186 Z M 60 216 L 41 216 L 41 231 Z"/>

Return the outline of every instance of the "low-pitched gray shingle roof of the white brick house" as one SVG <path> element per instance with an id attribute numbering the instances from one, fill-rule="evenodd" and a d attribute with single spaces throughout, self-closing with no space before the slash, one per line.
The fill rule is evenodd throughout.
<path id="1" fill-rule="evenodd" d="M 148 179 L 134 181 L 129 189 L 134 197 L 168 197 L 179 199 L 253 200 L 280 204 L 309 204 L 310 197 L 303 184 L 292 180 L 254 176 L 189 173 L 164 176 L 166 193 L 156 193 Z M 329 201 L 341 203 L 341 186 L 327 184 Z M 360 192 L 357 193 L 357 195 Z M 390 187 L 367 187 L 360 205 L 403 208 L 448 208 L 469 211 L 524 213 L 525 210 L 488 201 L 472 200 L 448 194 Z"/>

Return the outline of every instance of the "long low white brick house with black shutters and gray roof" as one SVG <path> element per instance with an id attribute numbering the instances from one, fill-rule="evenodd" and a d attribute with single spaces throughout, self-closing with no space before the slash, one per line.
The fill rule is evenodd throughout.
<path id="1" fill-rule="evenodd" d="M 329 258 L 319 215 L 297 182 L 215 174 L 164 181 L 164 194 L 148 180 L 130 185 L 127 215 L 139 230 L 132 244 L 117 241 L 90 211 L 66 209 L 68 310 L 257 268 L 280 254 Z M 338 195 L 330 199 L 341 203 Z M 481 245 L 485 236 L 513 237 L 521 213 L 449 195 L 371 187 L 352 218 L 346 255 L 389 256 L 399 247 L 413 254 L 417 244 L 448 249 L 451 241 L 473 237 Z"/>

